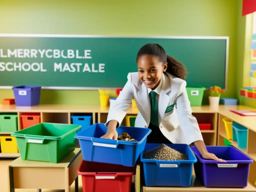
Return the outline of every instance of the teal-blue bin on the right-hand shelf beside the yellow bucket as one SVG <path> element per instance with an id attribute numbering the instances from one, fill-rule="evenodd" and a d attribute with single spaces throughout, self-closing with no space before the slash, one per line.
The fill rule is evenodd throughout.
<path id="1" fill-rule="evenodd" d="M 247 148 L 247 132 L 248 132 L 248 129 L 246 127 L 244 127 L 243 125 L 240 125 L 238 123 L 232 123 L 232 127 L 235 131 L 238 147 Z"/>

